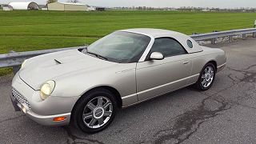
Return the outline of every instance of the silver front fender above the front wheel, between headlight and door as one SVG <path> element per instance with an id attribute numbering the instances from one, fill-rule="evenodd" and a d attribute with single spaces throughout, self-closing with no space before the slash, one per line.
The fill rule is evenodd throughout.
<path id="1" fill-rule="evenodd" d="M 98 86 L 110 86 L 118 90 L 121 97 L 136 94 L 136 63 L 117 64 L 102 70 L 82 70 L 54 78 L 56 86 L 53 96 L 81 97 Z"/>

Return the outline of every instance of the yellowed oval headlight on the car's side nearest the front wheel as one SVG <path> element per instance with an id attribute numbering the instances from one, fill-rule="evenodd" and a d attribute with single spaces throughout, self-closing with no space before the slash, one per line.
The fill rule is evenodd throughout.
<path id="1" fill-rule="evenodd" d="M 54 81 L 47 81 L 41 86 L 40 90 L 40 97 L 42 100 L 45 100 L 50 96 L 50 94 L 54 91 L 55 82 Z"/>

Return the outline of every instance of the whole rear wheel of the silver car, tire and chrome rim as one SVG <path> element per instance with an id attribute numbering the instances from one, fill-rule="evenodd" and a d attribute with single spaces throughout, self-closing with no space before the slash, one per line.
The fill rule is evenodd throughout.
<path id="1" fill-rule="evenodd" d="M 214 83 L 216 69 L 214 64 L 207 63 L 201 71 L 198 82 L 195 86 L 199 90 L 208 90 Z"/>

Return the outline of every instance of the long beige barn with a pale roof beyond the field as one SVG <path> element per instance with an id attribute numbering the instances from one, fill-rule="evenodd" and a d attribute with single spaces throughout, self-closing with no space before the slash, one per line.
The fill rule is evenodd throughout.
<path id="1" fill-rule="evenodd" d="M 87 5 L 82 3 L 69 2 L 53 2 L 48 3 L 48 10 L 62 10 L 62 11 L 86 11 Z"/>

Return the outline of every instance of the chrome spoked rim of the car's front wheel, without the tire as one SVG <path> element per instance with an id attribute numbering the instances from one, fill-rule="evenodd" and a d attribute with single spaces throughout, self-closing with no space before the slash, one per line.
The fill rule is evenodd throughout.
<path id="1" fill-rule="evenodd" d="M 92 129 L 97 129 L 110 120 L 113 106 L 109 98 L 100 96 L 86 104 L 82 113 L 84 124 Z"/>

